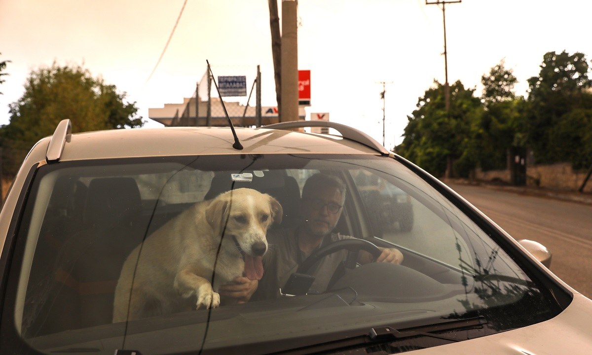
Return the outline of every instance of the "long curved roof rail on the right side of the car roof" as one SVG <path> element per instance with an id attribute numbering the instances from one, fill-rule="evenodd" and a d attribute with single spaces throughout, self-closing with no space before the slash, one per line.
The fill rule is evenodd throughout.
<path id="1" fill-rule="evenodd" d="M 337 122 L 331 121 L 288 121 L 288 122 L 279 122 L 274 124 L 268 124 L 261 128 L 269 128 L 272 130 L 290 130 L 292 128 L 305 128 L 305 127 L 329 127 L 333 128 L 334 130 L 338 131 L 343 138 L 356 141 L 361 143 L 367 147 L 370 147 L 374 150 L 378 150 L 382 155 L 389 155 L 390 151 L 388 151 L 384 146 L 378 143 L 374 138 L 370 137 L 368 134 L 363 133 L 360 130 L 356 130 L 356 128 L 349 127 L 345 124 L 340 124 Z"/>

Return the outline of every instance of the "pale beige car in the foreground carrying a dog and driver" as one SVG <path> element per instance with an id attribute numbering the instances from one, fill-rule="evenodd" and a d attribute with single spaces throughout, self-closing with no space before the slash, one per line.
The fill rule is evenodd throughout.
<path id="1" fill-rule="evenodd" d="M 311 125 L 339 135 L 294 130 Z M 303 184 L 318 172 L 345 182 L 336 233 L 355 238 L 303 264 L 378 247 L 400 250 L 402 264 L 343 264 L 326 292 L 303 286 L 112 322 L 121 267 L 157 228 L 251 188 L 282 205 L 276 231 L 294 230 L 305 222 Z M 399 226 L 384 228 L 377 214 Z M 14 179 L 0 248 L 2 355 L 592 353 L 592 302 L 549 272 L 544 247 L 514 240 L 433 176 L 334 122 L 237 128 L 235 139 L 211 127 L 71 134 L 62 121 Z"/>

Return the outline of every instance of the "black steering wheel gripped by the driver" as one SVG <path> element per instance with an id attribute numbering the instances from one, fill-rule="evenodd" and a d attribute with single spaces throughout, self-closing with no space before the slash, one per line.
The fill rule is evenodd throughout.
<path id="1" fill-rule="evenodd" d="M 356 267 L 356 261 L 358 260 L 358 252 L 360 250 L 368 251 L 368 253 L 372 254 L 375 261 L 378 259 L 382 251 L 378 249 L 374 243 L 371 243 L 367 240 L 353 238 L 353 239 L 342 239 L 334 241 L 333 243 L 324 246 L 320 249 L 315 250 L 310 256 L 308 256 L 298 267 L 297 273 L 306 274 L 308 270 L 318 262 L 321 258 L 336 253 L 337 251 L 346 249 L 349 251 L 348 260 L 346 261 L 346 267 L 353 269 Z"/>

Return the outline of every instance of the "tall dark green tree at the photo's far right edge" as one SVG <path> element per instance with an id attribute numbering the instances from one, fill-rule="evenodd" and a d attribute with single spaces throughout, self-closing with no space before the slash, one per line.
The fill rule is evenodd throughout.
<path id="1" fill-rule="evenodd" d="M 588 71 L 583 53 L 548 52 L 543 56 L 539 75 L 528 80 L 527 138 L 537 162 L 558 162 L 576 154 L 572 142 L 564 137 L 577 136 L 575 130 L 580 126 L 571 127 L 574 132 L 568 134 L 565 130 L 570 127 L 563 121 L 575 119 L 570 118 L 571 111 L 592 109 Z M 562 132 L 557 134 L 560 127 Z"/>

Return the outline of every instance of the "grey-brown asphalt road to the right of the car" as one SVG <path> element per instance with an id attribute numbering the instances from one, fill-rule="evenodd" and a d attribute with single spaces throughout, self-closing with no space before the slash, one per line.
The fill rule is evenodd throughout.
<path id="1" fill-rule="evenodd" d="M 448 184 L 516 240 L 542 243 L 551 271 L 592 298 L 592 205 L 520 195 L 495 188 Z"/>

